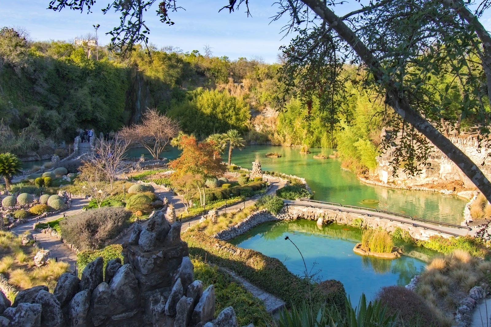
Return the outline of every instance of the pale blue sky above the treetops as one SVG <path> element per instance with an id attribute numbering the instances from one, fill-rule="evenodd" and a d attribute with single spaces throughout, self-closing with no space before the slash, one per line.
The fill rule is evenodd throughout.
<path id="1" fill-rule="evenodd" d="M 279 53 L 278 48 L 290 40 L 288 36 L 281 40 L 280 30 L 286 20 L 271 22 L 277 10 L 276 5 L 271 5 L 274 1 L 250 2 L 252 17 L 247 18 L 244 8 L 231 14 L 226 10 L 218 12 L 228 3 L 227 0 L 179 0 L 178 3 L 186 10 L 173 13 L 174 26 L 158 20 L 154 4 L 155 8 L 145 18 L 151 30 L 149 40 L 158 48 L 170 45 L 184 52 L 199 50 L 203 53 L 203 47 L 209 45 L 217 56 L 226 55 L 232 60 L 259 56 L 265 62 L 273 63 Z M 87 15 L 68 8 L 61 12 L 48 10 L 49 0 L 0 0 L 0 27 L 23 27 L 34 40 L 69 41 L 94 32 L 92 25 L 100 24 L 99 44 L 107 44 L 110 36 L 105 32 L 119 25 L 119 16 L 115 13 L 102 14 L 101 8 L 107 3 L 109 0 L 97 0 L 93 12 Z M 359 7 L 360 4 L 352 0 L 336 6 L 336 13 L 343 15 Z M 491 28 L 489 12 L 481 22 Z"/>

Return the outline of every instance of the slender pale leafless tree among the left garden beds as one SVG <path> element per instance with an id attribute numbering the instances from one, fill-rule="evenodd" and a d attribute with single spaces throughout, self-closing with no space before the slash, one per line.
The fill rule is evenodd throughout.
<path id="1" fill-rule="evenodd" d="M 116 180 L 116 174 L 121 170 L 126 158 L 125 151 L 130 142 L 116 135 L 112 141 L 97 138 L 95 142 L 96 154 L 90 159 L 92 164 L 103 171 L 109 181 L 112 191 L 112 183 Z"/>

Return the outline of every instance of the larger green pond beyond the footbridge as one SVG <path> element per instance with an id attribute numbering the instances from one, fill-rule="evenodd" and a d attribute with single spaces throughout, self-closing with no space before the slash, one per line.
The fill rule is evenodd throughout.
<path id="1" fill-rule="evenodd" d="M 341 169 L 339 159 L 314 159 L 313 156 L 321 150 L 311 149 L 311 154 L 302 155 L 299 153 L 300 148 L 296 147 L 249 145 L 242 151 L 234 149 L 232 162 L 251 169 L 252 162 L 258 160 L 263 170 L 303 177 L 314 191 L 316 200 L 372 207 L 456 224 L 460 224 L 463 219 L 464 207 L 467 203 L 465 199 L 436 192 L 389 189 L 361 183 L 354 173 Z M 266 158 L 265 154 L 268 152 L 277 152 L 282 157 Z M 323 149 L 323 152 L 329 155 L 332 154 L 333 149 Z M 141 154 L 151 158 L 144 148 L 128 150 L 128 155 L 131 157 L 139 157 Z M 162 157 L 172 160 L 179 154 L 179 150 L 172 148 L 170 151 L 163 152 Z M 228 151 L 223 155 L 224 160 L 228 160 L 227 154 Z M 365 199 L 375 199 L 379 203 L 363 204 L 362 201 Z"/>

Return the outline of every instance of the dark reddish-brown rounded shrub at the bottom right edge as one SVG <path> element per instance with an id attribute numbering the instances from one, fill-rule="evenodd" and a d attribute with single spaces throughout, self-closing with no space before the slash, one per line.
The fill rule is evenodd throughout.
<path id="1" fill-rule="evenodd" d="M 402 286 L 385 286 L 377 293 L 382 305 L 387 305 L 388 314 L 399 314 L 402 326 L 420 327 L 437 325 L 434 313 L 426 301 L 415 292 Z"/>

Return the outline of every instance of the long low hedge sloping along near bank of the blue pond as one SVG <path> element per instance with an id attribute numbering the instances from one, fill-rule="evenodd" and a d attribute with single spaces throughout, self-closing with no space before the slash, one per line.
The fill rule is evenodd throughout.
<path id="1" fill-rule="evenodd" d="M 300 306 L 309 299 L 308 281 L 290 271 L 276 258 L 270 258 L 251 249 L 240 249 L 234 254 L 225 248 L 234 250 L 238 247 L 227 242 L 210 238 L 202 232 L 188 232 L 182 235 L 188 243 L 193 258 L 205 258 L 208 262 L 226 267 L 246 278 L 257 287 L 284 300 L 287 305 Z M 218 243 L 224 248 L 218 248 Z M 311 296 L 314 303 L 333 304 L 344 309 L 345 296 L 343 284 L 337 280 L 326 280 L 320 284 L 312 283 Z"/>

